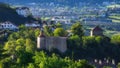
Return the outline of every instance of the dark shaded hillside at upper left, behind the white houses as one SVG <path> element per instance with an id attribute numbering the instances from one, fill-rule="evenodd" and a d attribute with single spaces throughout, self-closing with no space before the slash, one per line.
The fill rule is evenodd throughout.
<path id="1" fill-rule="evenodd" d="M 24 24 L 33 18 L 25 18 L 17 14 L 17 12 L 10 8 L 9 5 L 0 3 L 0 22 L 11 21 L 16 25 Z"/>

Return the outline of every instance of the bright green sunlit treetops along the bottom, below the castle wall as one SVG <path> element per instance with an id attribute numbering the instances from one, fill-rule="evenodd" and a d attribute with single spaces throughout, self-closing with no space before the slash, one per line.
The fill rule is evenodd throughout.
<path id="1" fill-rule="evenodd" d="M 34 64 L 29 64 L 28 67 L 35 68 L 94 68 L 86 60 L 74 61 L 68 57 L 61 58 L 56 54 L 48 56 L 45 52 L 36 52 Z"/>

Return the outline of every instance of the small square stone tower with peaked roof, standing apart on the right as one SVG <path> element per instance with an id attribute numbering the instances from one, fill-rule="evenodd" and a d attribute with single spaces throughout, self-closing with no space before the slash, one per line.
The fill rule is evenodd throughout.
<path id="1" fill-rule="evenodd" d="M 100 28 L 99 26 L 96 26 L 93 28 L 90 32 L 91 36 L 103 36 L 103 29 Z"/>

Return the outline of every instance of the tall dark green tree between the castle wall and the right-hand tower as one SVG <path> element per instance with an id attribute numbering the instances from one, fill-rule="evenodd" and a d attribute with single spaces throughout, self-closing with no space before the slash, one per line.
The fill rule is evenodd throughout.
<path id="1" fill-rule="evenodd" d="M 73 24 L 71 27 L 71 31 L 73 35 L 78 35 L 79 37 L 82 37 L 84 35 L 83 28 L 80 22 Z"/>

